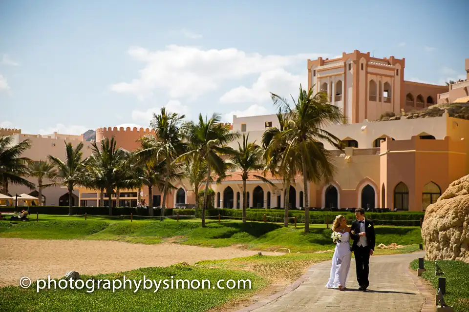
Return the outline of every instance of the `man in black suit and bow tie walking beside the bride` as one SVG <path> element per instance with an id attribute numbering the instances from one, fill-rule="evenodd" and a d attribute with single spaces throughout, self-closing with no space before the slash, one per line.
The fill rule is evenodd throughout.
<path id="1" fill-rule="evenodd" d="M 357 220 L 352 222 L 350 236 L 353 238 L 352 251 L 355 255 L 355 265 L 357 266 L 357 280 L 360 291 L 366 291 L 368 285 L 368 274 L 370 271 L 370 256 L 375 249 L 375 228 L 371 220 L 365 219 L 363 208 L 355 210 Z"/>

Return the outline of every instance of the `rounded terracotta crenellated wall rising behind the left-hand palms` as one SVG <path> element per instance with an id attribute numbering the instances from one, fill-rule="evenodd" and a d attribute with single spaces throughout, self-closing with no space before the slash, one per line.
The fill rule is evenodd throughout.
<path id="1" fill-rule="evenodd" d="M 117 127 L 105 127 L 96 129 L 96 141 L 99 142 L 106 137 L 114 137 L 117 142 L 117 147 L 122 147 L 127 151 L 135 151 L 140 147 L 140 144 L 137 142 L 139 138 L 154 134 L 154 130 L 149 128 L 138 129 L 137 127 L 133 127 L 130 129 L 130 127 L 127 127 L 124 129 L 124 127 L 120 127 L 118 129 Z"/>

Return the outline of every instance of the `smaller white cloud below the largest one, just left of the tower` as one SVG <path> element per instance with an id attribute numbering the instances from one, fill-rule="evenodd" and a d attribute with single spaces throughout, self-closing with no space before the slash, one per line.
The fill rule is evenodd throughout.
<path id="1" fill-rule="evenodd" d="M 307 74 L 293 75 L 283 68 L 266 71 L 260 74 L 256 82 L 250 87 L 239 86 L 221 96 L 221 103 L 267 102 L 271 98 L 270 92 L 290 98 L 296 98 L 299 84 L 307 88 Z"/>

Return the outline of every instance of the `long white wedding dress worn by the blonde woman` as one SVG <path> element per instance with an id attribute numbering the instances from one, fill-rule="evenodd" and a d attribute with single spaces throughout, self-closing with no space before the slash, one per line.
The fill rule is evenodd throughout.
<path id="1" fill-rule="evenodd" d="M 339 288 L 339 285 L 345 287 L 348 272 L 350 270 L 350 233 L 342 233 L 341 242 L 337 242 L 334 256 L 332 257 L 331 276 L 326 284 L 327 288 Z"/>

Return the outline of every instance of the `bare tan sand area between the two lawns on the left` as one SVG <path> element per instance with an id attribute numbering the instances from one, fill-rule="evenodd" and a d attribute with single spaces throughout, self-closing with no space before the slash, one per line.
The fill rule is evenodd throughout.
<path id="1" fill-rule="evenodd" d="M 0 287 L 17 286 L 23 276 L 34 281 L 47 278 L 47 275 L 61 277 L 72 270 L 80 274 L 113 273 L 169 266 L 178 262 L 193 264 L 201 260 L 232 259 L 257 253 L 234 247 L 168 243 L 145 245 L 117 241 L 0 238 Z"/>

